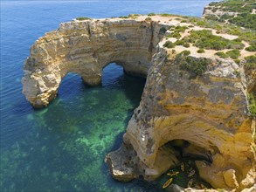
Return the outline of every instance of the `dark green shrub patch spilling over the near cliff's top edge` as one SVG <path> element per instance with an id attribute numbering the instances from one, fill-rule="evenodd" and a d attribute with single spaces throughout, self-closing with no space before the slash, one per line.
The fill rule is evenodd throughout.
<path id="1" fill-rule="evenodd" d="M 193 58 L 188 56 L 190 51 L 183 51 L 176 55 L 175 63 L 180 64 L 180 69 L 190 73 L 190 79 L 202 76 L 211 63 L 208 58 Z"/>

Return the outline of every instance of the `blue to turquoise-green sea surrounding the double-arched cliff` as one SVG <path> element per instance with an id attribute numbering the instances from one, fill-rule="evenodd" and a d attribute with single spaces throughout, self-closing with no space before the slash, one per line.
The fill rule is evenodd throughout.
<path id="1" fill-rule="evenodd" d="M 201 17 L 211 0 L 1 1 L 1 191 L 161 191 L 156 182 L 116 182 L 105 155 L 121 145 L 145 79 L 107 65 L 102 86 L 68 74 L 59 96 L 34 110 L 22 94 L 33 42 L 75 17 L 173 13 Z"/>

